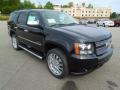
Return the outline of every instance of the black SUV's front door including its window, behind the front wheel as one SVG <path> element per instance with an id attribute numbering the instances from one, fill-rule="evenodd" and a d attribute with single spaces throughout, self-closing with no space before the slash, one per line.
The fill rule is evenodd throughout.
<path id="1" fill-rule="evenodd" d="M 38 24 L 38 25 L 37 25 Z M 39 51 L 43 51 L 44 30 L 40 28 L 40 15 L 37 12 L 30 12 L 27 18 L 26 36 L 30 45 Z"/>

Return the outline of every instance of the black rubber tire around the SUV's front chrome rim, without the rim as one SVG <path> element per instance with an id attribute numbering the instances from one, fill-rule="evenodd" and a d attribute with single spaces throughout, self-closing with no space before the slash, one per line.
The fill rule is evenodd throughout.
<path id="1" fill-rule="evenodd" d="M 50 69 L 50 66 L 49 66 L 49 56 L 53 53 L 58 55 L 61 58 L 61 61 L 62 61 L 62 64 L 63 64 L 63 71 L 60 75 L 54 74 L 52 72 L 52 70 Z M 58 79 L 62 79 L 69 74 L 67 57 L 66 57 L 65 53 L 63 51 L 61 51 L 60 49 L 55 48 L 55 49 L 52 49 L 52 50 L 48 51 L 46 59 L 47 59 L 48 70 L 54 77 L 56 77 Z"/>

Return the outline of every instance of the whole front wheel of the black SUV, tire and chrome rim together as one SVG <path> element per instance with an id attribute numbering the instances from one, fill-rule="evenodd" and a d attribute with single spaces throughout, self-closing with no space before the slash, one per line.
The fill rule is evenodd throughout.
<path id="1" fill-rule="evenodd" d="M 52 49 L 47 53 L 47 66 L 50 73 L 56 78 L 64 78 L 68 75 L 68 63 L 64 52 L 60 49 Z"/>

